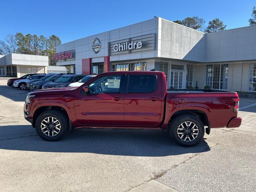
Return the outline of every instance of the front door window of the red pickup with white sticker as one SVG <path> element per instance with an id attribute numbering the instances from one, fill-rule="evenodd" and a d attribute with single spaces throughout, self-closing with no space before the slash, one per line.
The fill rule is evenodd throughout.
<path id="1" fill-rule="evenodd" d="M 90 94 L 120 92 L 121 76 L 104 76 L 89 84 Z"/>

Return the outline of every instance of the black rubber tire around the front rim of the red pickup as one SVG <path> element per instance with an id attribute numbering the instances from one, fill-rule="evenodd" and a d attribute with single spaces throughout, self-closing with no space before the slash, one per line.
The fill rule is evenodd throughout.
<path id="1" fill-rule="evenodd" d="M 44 131 L 47 131 L 48 129 L 41 128 L 41 127 L 44 127 L 44 126 L 41 126 L 41 123 L 43 123 L 44 119 L 48 118 L 48 117 L 56 118 L 60 123 L 60 127 L 59 127 L 60 130 L 56 130 L 59 132 L 54 136 L 46 135 L 46 134 L 48 134 L 48 132 L 50 132 L 51 134 L 55 134 L 55 133 L 53 133 L 53 131 L 48 131 L 48 132 L 44 133 Z M 61 138 L 63 138 L 66 135 L 66 133 L 68 132 L 68 126 L 69 126 L 68 117 L 66 116 L 66 114 L 64 114 L 64 112 L 62 112 L 60 110 L 44 111 L 36 119 L 36 132 L 37 132 L 38 136 L 40 136 L 40 138 L 42 138 L 43 140 L 46 140 L 46 141 L 58 141 Z M 52 130 L 54 130 L 54 128 Z"/>

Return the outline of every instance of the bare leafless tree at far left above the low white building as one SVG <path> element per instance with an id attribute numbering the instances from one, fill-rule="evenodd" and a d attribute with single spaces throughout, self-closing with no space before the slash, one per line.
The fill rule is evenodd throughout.
<path id="1" fill-rule="evenodd" d="M 4 41 L 0 40 L 0 54 L 10 54 L 10 53 L 16 53 L 17 51 L 17 41 L 14 35 L 8 34 Z"/>

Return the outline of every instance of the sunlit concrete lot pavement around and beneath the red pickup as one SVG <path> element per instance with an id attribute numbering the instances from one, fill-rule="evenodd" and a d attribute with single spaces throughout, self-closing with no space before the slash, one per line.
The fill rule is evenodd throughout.
<path id="1" fill-rule="evenodd" d="M 7 79 L 0 78 L 0 188 L 6 191 L 256 188 L 255 99 L 241 99 L 239 128 L 212 129 L 192 148 L 155 130 L 82 129 L 46 142 L 23 117 L 28 91 L 6 86 Z"/>

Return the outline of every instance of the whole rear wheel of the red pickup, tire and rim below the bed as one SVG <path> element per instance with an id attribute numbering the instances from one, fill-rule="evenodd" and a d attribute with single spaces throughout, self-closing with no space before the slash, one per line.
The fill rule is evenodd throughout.
<path id="1" fill-rule="evenodd" d="M 186 126 L 186 124 L 189 125 L 190 122 L 192 122 L 191 126 Z M 182 126 L 184 126 L 184 128 L 182 128 Z M 193 126 L 194 129 L 192 129 Z M 170 124 L 170 136 L 172 140 L 181 146 L 195 146 L 204 138 L 204 124 L 198 116 L 193 114 L 182 114 L 176 116 Z"/>

